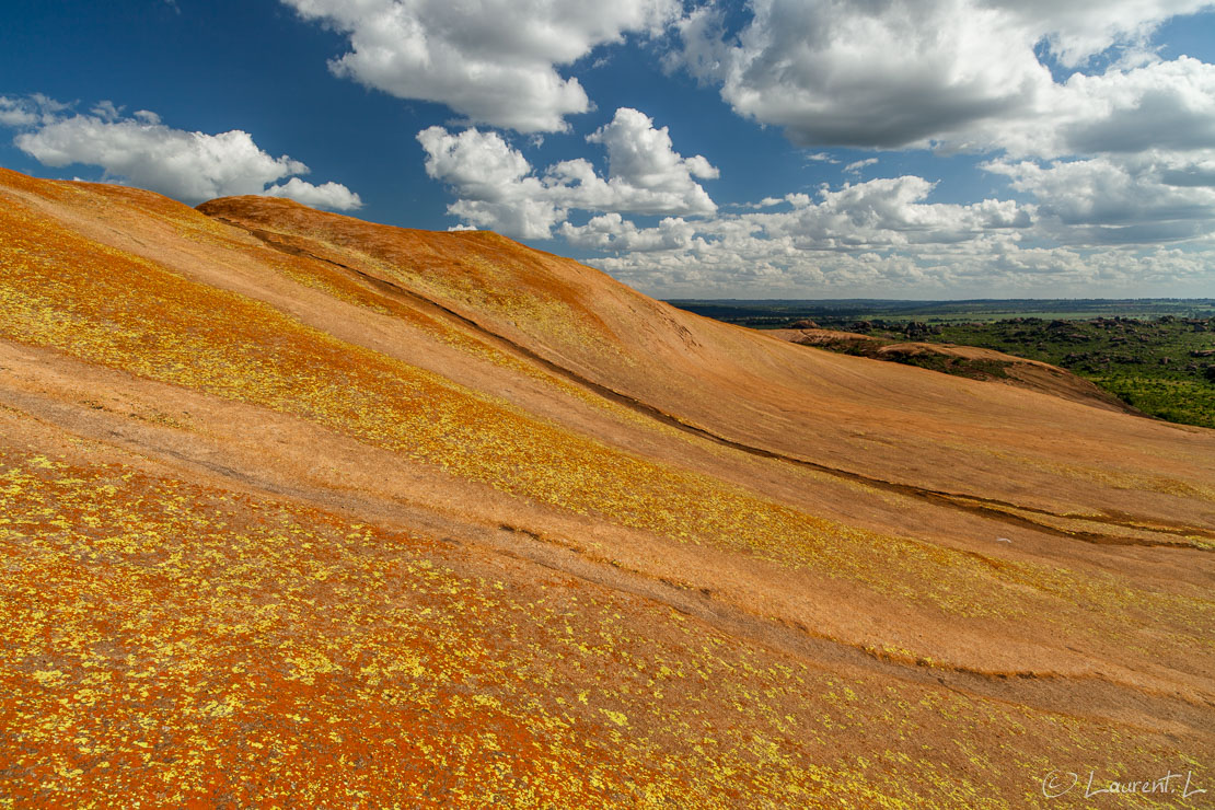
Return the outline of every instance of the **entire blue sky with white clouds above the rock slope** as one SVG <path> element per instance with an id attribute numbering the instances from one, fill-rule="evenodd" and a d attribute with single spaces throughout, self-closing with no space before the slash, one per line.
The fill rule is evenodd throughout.
<path id="1" fill-rule="evenodd" d="M 1215 295 L 1203 0 L 0 12 L 0 165 L 492 228 L 665 298 Z"/>

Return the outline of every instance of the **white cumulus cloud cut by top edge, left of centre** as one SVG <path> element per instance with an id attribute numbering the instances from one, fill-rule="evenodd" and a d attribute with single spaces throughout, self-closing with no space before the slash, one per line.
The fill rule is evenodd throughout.
<path id="1" fill-rule="evenodd" d="M 656 34 L 678 0 L 283 0 L 346 34 L 339 77 L 399 98 L 446 104 L 469 124 L 565 131 L 592 108 L 558 68 L 629 33 Z"/>

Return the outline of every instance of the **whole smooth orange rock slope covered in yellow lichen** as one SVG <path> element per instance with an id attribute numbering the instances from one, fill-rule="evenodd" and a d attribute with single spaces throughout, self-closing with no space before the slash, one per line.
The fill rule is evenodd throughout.
<path id="1" fill-rule="evenodd" d="M 0 170 L 0 806 L 1215 794 L 1215 432 L 492 233 Z"/>

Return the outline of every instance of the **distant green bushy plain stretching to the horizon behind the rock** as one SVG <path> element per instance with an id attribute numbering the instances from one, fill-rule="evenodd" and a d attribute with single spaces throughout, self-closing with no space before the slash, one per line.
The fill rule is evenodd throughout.
<path id="1" fill-rule="evenodd" d="M 757 328 L 809 321 L 889 340 L 995 349 L 1067 368 L 1153 417 L 1215 427 L 1213 299 L 672 304 Z"/>

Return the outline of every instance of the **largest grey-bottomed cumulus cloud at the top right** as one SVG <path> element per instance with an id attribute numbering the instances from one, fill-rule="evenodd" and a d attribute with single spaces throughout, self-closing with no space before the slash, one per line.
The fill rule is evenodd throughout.
<path id="1" fill-rule="evenodd" d="M 1038 129 L 1053 129 L 1076 104 L 1096 112 L 1087 103 L 1091 84 L 1079 78 L 1055 83 L 1039 58 L 1041 44 L 1066 67 L 1109 49 L 1131 51 L 1130 63 L 1153 61 L 1148 36 L 1157 27 L 1211 5 L 753 0 L 753 16 L 736 36 L 723 35 L 713 7 L 693 11 L 679 23 L 684 47 L 672 62 L 719 85 L 738 113 L 785 128 L 798 145 L 1002 148 L 1001 132 L 1010 124 L 1023 129 L 1018 124 L 1030 119 Z M 1119 80 L 1126 63 L 1109 67 L 1109 81 Z M 1182 72 L 1197 67 L 1180 64 Z M 1129 109 L 1112 91 L 1107 101 L 1111 112 Z M 1193 98 L 1152 101 L 1168 111 Z"/>

